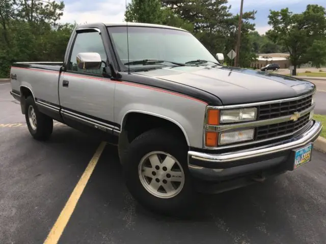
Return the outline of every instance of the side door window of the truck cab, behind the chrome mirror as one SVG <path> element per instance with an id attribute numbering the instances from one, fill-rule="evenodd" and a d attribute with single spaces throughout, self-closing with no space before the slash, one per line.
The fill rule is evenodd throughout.
<path id="1" fill-rule="evenodd" d="M 85 73 L 102 74 L 99 70 L 82 70 L 77 67 L 76 56 L 80 52 L 97 52 L 100 54 L 102 61 L 106 61 L 106 53 L 103 46 L 101 35 L 98 32 L 78 33 L 73 44 L 68 70 Z M 104 67 L 104 64 L 102 64 Z"/>

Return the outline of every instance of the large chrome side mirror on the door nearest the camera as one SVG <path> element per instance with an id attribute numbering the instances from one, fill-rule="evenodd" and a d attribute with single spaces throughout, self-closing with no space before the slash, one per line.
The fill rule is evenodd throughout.
<path id="1" fill-rule="evenodd" d="M 102 59 L 97 52 L 81 52 L 76 56 L 77 67 L 82 70 L 99 70 Z"/>

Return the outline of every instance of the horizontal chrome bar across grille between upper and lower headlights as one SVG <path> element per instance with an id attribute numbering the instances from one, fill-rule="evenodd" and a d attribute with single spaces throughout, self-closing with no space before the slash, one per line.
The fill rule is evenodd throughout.
<path id="1" fill-rule="evenodd" d="M 311 105 L 311 107 L 303 110 L 299 113 L 300 117 L 310 113 L 314 108 L 315 104 Z M 213 132 L 222 132 L 222 131 L 228 131 L 232 129 L 240 129 L 240 128 L 249 128 L 249 127 L 258 127 L 258 126 L 267 126 L 267 125 L 273 125 L 278 123 L 283 123 L 291 120 L 293 114 L 283 116 L 283 117 L 277 117 L 277 118 L 270 118 L 270 119 L 264 119 L 264 120 L 256 120 L 251 122 L 245 122 L 245 123 L 237 123 L 237 124 L 229 124 L 229 125 L 220 125 L 220 126 L 209 126 L 206 125 L 206 131 L 213 131 Z M 299 117 L 299 118 L 300 118 Z"/>

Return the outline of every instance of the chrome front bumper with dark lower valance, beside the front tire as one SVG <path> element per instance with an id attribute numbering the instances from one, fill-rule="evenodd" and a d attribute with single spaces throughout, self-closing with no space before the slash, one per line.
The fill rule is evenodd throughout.
<path id="1" fill-rule="evenodd" d="M 286 162 L 292 149 L 313 143 L 321 133 L 322 125 L 312 120 L 306 132 L 289 140 L 225 154 L 208 154 L 188 151 L 188 168 L 197 176 L 205 178 L 229 177 L 270 168 Z"/>

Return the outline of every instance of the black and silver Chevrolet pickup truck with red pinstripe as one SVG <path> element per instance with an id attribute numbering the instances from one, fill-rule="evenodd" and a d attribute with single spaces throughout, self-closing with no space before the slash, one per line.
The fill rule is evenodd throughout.
<path id="1" fill-rule="evenodd" d="M 223 59 L 180 28 L 82 24 L 63 62 L 14 63 L 11 94 L 35 139 L 48 139 L 57 120 L 117 144 L 134 198 L 178 212 L 199 191 L 309 162 L 322 129 L 314 84 Z"/>

